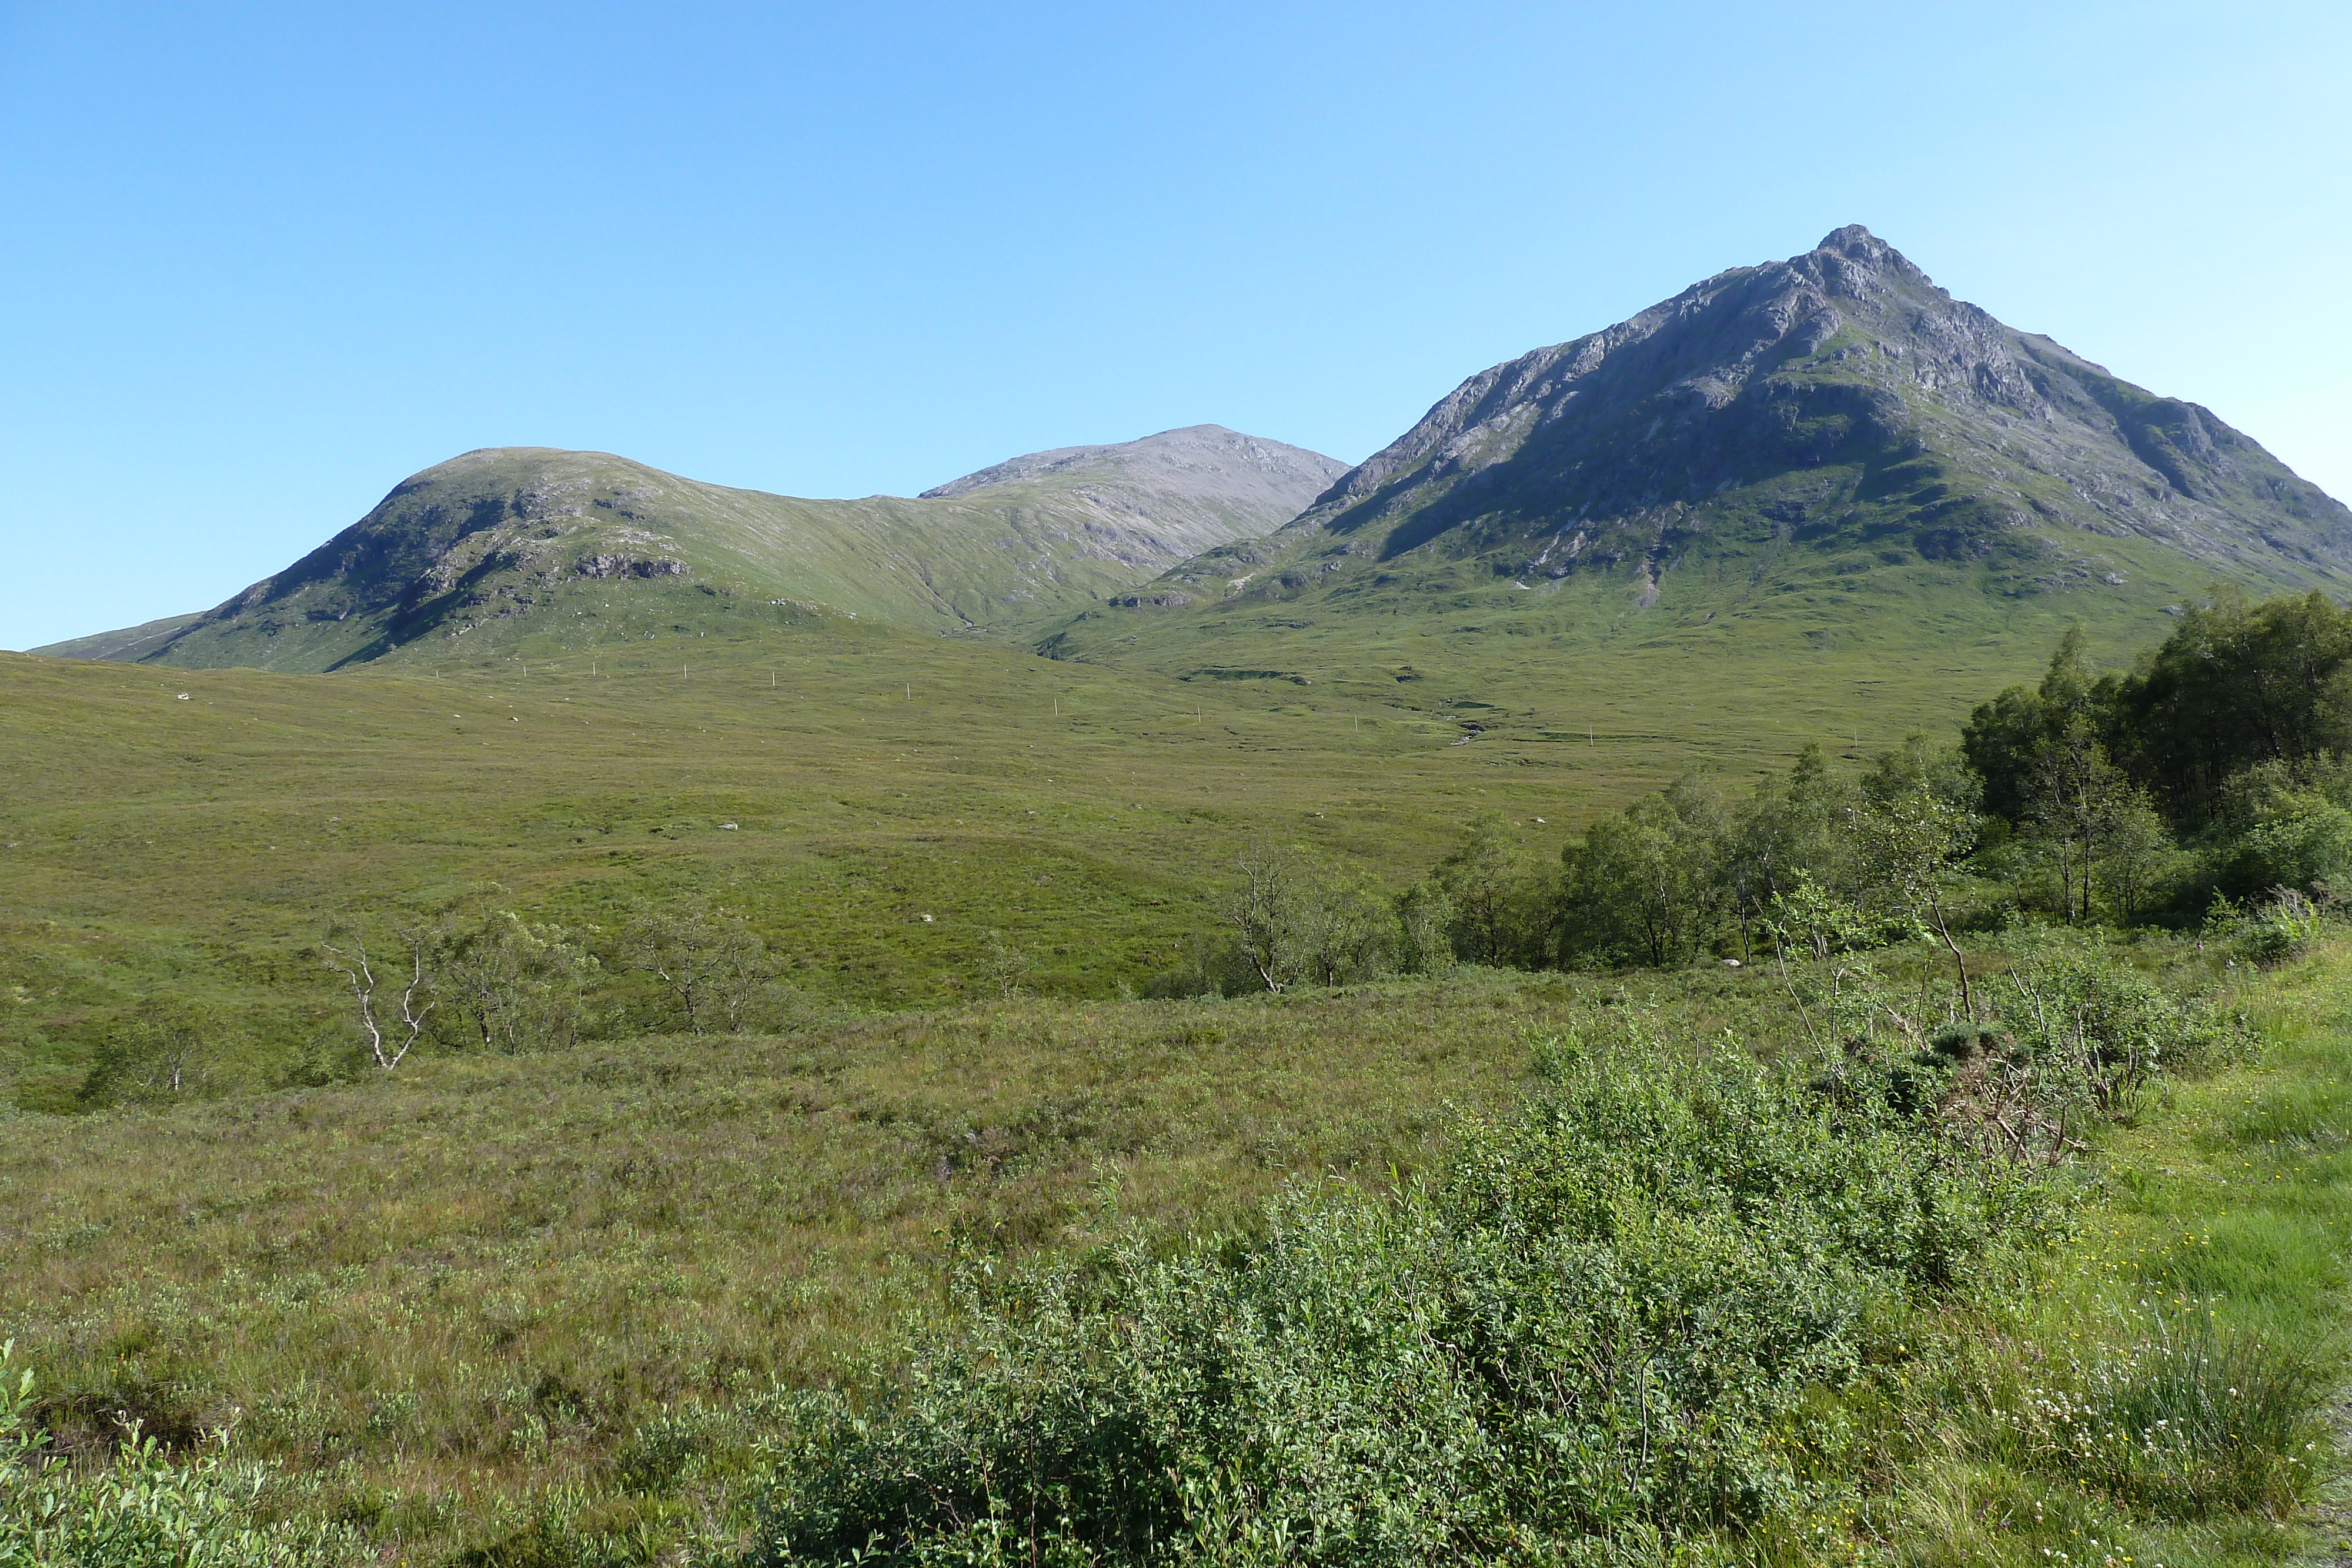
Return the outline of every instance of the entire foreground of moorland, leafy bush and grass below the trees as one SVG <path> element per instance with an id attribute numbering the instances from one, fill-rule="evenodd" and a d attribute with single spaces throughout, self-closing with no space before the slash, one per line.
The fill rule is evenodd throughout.
<path id="1" fill-rule="evenodd" d="M 230 1425 L 407 1561 L 2279 1561 L 2352 954 L 2253 1065 L 2218 950 L 1971 959 L 2020 1051 L 1898 952 L 1795 964 L 1828 1056 L 1773 971 L 1470 973 L 26 1119 L 0 1288 L 68 1455 Z"/>

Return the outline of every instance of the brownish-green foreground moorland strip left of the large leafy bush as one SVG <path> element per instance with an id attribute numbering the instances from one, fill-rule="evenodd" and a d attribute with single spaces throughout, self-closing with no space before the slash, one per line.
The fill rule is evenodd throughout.
<path id="1" fill-rule="evenodd" d="M 235 1427 L 393 1540 L 612 1486 L 682 1403 L 807 1385 L 997 1255 L 1385 1182 L 1529 1072 L 1566 987 L 967 1006 L 788 1039 L 433 1058 L 7 1135 L 7 1331 L 45 1422 Z M 167 1150 L 167 1157 L 155 1154 Z"/>

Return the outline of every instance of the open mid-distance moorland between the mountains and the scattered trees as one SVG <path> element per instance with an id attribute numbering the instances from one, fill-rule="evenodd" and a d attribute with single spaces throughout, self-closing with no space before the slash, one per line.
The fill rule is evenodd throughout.
<path id="1" fill-rule="evenodd" d="M 1816 684 L 1818 712 L 1792 717 L 1752 686 L 1724 701 L 1696 668 L 1663 701 L 1630 665 L 1595 665 L 1456 745 L 1472 708 L 1406 705 L 1411 682 L 1381 703 L 790 621 L 336 677 L 0 656 L 7 1093 L 64 1110 L 155 992 L 230 1009 L 223 1074 L 282 1081 L 343 1027 L 315 954 L 339 914 L 499 905 L 609 926 L 691 886 L 739 907 L 821 1006 L 969 994 L 988 931 L 1030 959 L 1028 990 L 1110 997 L 1214 926 L 1254 839 L 1402 886 L 1496 811 L 1550 860 L 1686 766 L 1889 745 L 1947 726 L 1985 677 Z M 2042 656 L 2018 637 L 1992 665 Z"/>

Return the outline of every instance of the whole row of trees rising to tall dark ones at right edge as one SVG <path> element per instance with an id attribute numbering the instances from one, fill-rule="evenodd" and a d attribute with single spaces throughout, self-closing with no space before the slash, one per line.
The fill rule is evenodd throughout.
<path id="1" fill-rule="evenodd" d="M 1486 813 L 1428 877 L 1261 846 L 1221 938 L 1160 994 L 1282 992 L 1451 964 L 1755 961 L 2006 914 L 2065 924 L 2307 919 L 2352 896 L 2352 614 L 2324 595 L 2190 609 L 2131 670 L 2067 630 L 2037 684 L 1955 743 L 1839 769 L 1806 745 L 1745 790 L 1686 773 L 1595 820 L 1557 863 Z M 1957 959 L 1957 947 L 1955 947 Z M 1962 971 L 1964 973 L 1964 971 Z"/>

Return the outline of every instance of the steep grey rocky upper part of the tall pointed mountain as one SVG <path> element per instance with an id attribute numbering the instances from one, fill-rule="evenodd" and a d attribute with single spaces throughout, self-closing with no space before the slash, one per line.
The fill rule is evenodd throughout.
<path id="1" fill-rule="evenodd" d="M 2352 512 L 2211 409 L 2004 327 L 1860 226 L 1472 376 L 1298 531 L 1378 559 L 1517 538 L 1555 578 L 1856 531 L 2020 569 L 2067 531 L 2227 576 L 2352 569 Z"/>

